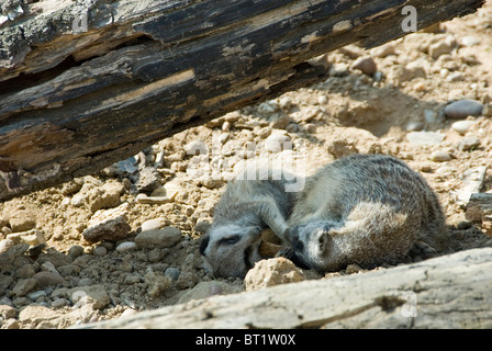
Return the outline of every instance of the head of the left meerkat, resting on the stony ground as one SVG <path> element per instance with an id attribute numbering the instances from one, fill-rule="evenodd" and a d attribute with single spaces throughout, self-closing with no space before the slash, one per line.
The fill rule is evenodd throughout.
<path id="1" fill-rule="evenodd" d="M 260 227 L 212 226 L 200 244 L 204 268 L 214 276 L 244 278 L 261 260 Z"/>

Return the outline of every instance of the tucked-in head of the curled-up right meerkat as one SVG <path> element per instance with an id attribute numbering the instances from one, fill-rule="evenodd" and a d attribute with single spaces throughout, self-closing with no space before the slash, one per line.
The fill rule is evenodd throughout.
<path id="1" fill-rule="evenodd" d="M 284 238 L 290 242 L 294 257 L 304 265 L 323 271 L 323 262 L 329 256 L 332 237 L 329 230 L 339 225 L 331 220 L 318 220 L 290 227 Z"/>

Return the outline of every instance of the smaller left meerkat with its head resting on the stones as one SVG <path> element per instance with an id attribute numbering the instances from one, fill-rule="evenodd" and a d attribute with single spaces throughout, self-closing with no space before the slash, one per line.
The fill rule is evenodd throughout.
<path id="1" fill-rule="evenodd" d="M 244 278 L 262 259 L 261 233 L 270 228 L 281 238 L 288 228 L 293 192 L 286 186 L 293 177 L 271 169 L 256 169 L 254 177 L 246 172 L 227 183 L 200 244 L 204 268 L 214 276 Z"/>

